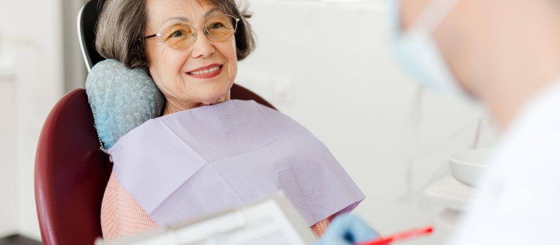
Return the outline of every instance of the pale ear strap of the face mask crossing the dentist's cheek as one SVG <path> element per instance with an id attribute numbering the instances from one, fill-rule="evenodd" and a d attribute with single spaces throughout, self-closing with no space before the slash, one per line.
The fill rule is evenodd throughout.
<path id="1" fill-rule="evenodd" d="M 441 22 L 455 9 L 461 0 L 432 0 L 418 16 L 409 30 L 423 30 L 433 33 Z"/>

